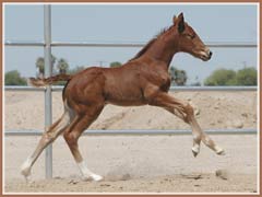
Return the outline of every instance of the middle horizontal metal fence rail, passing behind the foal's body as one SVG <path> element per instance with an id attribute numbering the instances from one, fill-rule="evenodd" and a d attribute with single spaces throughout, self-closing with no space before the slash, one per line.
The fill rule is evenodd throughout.
<path id="1" fill-rule="evenodd" d="M 63 86 L 55 85 L 51 86 L 53 92 L 59 92 L 63 90 Z M 258 86 L 170 86 L 170 91 L 257 91 Z M 4 86 L 4 91 L 46 91 L 45 86 Z"/>

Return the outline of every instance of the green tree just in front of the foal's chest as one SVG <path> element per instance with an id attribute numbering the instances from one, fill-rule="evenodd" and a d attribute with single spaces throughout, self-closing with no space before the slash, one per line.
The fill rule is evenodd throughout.
<path id="1" fill-rule="evenodd" d="M 171 83 L 175 85 L 184 85 L 188 80 L 187 72 L 179 70 L 175 67 L 170 67 L 169 74 L 171 76 Z"/>

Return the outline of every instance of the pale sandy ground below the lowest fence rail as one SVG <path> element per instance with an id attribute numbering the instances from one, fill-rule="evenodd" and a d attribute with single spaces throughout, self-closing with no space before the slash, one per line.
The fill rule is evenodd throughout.
<path id="1" fill-rule="evenodd" d="M 38 137 L 7 137 L 7 193 L 257 193 L 257 136 L 214 136 L 226 155 L 202 146 L 193 158 L 191 136 L 82 137 L 80 148 L 88 167 L 104 181 L 84 182 L 59 138 L 53 143 L 53 177 L 45 181 L 43 154 L 26 184 L 20 165 Z M 223 179 L 215 175 L 225 172 Z"/>

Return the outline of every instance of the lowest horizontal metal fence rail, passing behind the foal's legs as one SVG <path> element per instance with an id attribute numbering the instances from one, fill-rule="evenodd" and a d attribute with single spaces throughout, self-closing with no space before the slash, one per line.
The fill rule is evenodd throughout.
<path id="1" fill-rule="evenodd" d="M 210 135 L 257 135 L 258 131 L 254 128 L 243 129 L 205 129 L 205 132 Z M 5 130 L 5 136 L 40 136 L 40 130 Z M 112 136 L 112 135 L 192 135 L 191 130 L 188 129 L 176 129 L 176 130 L 150 130 L 150 129 L 124 129 L 124 130 L 85 130 L 83 135 L 91 136 Z"/>

